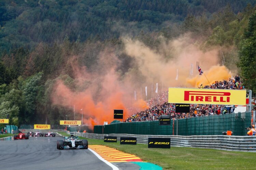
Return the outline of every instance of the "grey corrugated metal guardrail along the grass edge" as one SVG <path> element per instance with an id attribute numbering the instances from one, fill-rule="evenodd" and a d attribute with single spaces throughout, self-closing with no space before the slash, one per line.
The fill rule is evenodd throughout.
<path id="1" fill-rule="evenodd" d="M 201 136 L 168 136 L 168 135 L 132 135 L 132 134 L 92 134 L 74 133 L 76 136 L 90 139 L 104 139 L 104 136 L 137 137 L 137 143 L 147 144 L 149 137 L 171 138 L 172 147 L 208 148 L 226 151 L 256 152 L 256 136 L 224 136 L 224 135 L 201 135 Z"/>

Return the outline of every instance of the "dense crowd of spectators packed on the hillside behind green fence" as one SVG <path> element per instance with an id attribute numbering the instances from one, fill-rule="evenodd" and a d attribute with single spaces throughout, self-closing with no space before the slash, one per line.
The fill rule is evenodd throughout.
<path id="1" fill-rule="evenodd" d="M 239 75 L 236 75 L 234 79 L 229 79 L 229 81 L 216 81 L 210 86 L 200 86 L 199 88 L 244 89 L 244 86 Z M 125 122 L 154 121 L 158 120 L 160 115 L 178 116 L 179 119 L 184 119 L 234 112 L 234 107 L 226 107 L 225 105 L 190 104 L 189 113 L 175 113 L 175 104 L 168 103 L 168 91 L 162 92 L 155 98 L 148 100 L 147 104 L 150 108 L 130 115 Z"/>

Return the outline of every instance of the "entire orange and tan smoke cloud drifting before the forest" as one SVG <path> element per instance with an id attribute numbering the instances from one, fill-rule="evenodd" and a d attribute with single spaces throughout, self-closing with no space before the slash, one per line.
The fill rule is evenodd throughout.
<path id="1" fill-rule="evenodd" d="M 94 72 L 80 68 L 75 57 L 72 57 L 70 64 L 75 73 L 76 86 L 80 87 L 84 82 L 89 82 L 89 85 L 72 91 L 64 82 L 58 81 L 52 95 L 53 103 L 70 108 L 75 105 L 75 112 L 80 114 L 83 109 L 83 121 L 93 127 L 102 125 L 104 121 L 113 121 L 113 109 L 123 109 L 124 118 L 127 118 L 148 108 L 144 97 L 141 97 L 141 94 L 145 96 L 145 86 L 148 86 L 150 98 L 149 91 L 155 83 L 160 86 L 163 82 L 164 90 L 167 87 L 197 88 L 200 84 L 209 84 L 208 80 L 213 83 L 231 77 L 230 71 L 219 65 L 219 50 L 202 51 L 189 35 L 171 41 L 162 39 L 157 49 L 130 38 L 123 38 L 123 43 L 123 52 L 133 58 L 134 67 L 120 75 L 116 68 L 122 62 L 111 48 L 102 49 Z M 199 75 L 196 62 L 199 62 L 208 80 L 204 75 Z M 137 91 L 137 100 L 133 97 L 134 90 Z"/>

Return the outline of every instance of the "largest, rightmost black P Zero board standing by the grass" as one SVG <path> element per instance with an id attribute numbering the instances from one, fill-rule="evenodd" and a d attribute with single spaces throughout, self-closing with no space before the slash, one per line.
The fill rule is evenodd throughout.
<path id="1" fill-rule="evenodd" d="M 148 138 L 148 148 L 171 148 L 171 138 Z"/>

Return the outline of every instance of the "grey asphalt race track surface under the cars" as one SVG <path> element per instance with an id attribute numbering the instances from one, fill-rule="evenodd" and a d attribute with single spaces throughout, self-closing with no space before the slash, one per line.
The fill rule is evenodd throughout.
<path id="1" fill-rule="evenodd" d="M 88 149 L 58 150 L 56 143 L 59 139 L 63 137 L 56 134 L 56 137 L 0 140 L 0 169 L 112 169 Z M 132 163 L 115 166 L 119 169 L 140 169 Z"/>

